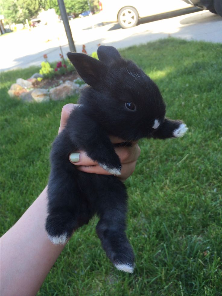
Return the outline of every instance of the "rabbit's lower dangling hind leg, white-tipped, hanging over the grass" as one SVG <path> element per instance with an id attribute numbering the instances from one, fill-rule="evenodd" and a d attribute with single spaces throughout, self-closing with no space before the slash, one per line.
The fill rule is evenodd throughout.
<path id="1" fill-rule="evenodd" d="M 103 249 L 114 266 L 132 273 L 135 264 L 133 249 L 125 234 L 126 202 L 125 188 L 113 186 L 112 190 L 107 189 L 100 199 L 100 221 L 96 230 Z"/>

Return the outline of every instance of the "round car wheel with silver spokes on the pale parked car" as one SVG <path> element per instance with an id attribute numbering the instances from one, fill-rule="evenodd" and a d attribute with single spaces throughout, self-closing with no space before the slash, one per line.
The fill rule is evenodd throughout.
<path id="1" fill-rule="evenodd" d="M 126 6 L 119 11 L 117 19 L 122 28 L 132 28 L 137 25 L 139 14 L 135 8 Z"/>

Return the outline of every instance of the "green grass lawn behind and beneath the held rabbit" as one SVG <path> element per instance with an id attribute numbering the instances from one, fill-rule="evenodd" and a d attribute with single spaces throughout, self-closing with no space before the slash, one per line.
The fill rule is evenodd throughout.
<path id="1" fill-rule="evenodd" d="M 113 267 L 94 218 L 75 232 L 38 295 L 221 295 L 222 45 L 169 38 L 121 54 L 154 79 L 166 115 L 184 120 L 189 132 L 140 142 L 136 170 L 126 181 L 135 272 Z M 1 234 L 46 186 L 62 106 L 78 99 L 9 98 L 16 78 L 37 70 L 1 74 Z"/>

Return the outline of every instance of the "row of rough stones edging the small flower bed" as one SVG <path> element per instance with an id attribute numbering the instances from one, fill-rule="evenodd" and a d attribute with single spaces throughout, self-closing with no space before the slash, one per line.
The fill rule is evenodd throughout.
<path id="1" fill-rule="evenodd" d="M 12 84 L 8 90 L 10 97 L 17 97 L 25 102 L 47 102 L 49 100 L 57 101 L 64 100 L 66 97 L 78 94 L 86 84 L 82 84 L 81 78 L 77 78 L 74 81 L 65 81 L 54 88 L 33 88 L 33 83 L 36 82 L 38 77 L 42 77 L 41 74 L 35 73 L 29 79 L 25 80 L 18 78 L 16 83 Z M 78 83 L 80 82 L 80 83 Z"/>

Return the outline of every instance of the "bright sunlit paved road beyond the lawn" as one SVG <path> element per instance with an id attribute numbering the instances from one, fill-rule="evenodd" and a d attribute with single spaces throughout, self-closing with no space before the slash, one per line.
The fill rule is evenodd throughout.
<path id="1" fill-rule="evenodd" d="M 113 23 L 102 25 L 98 15 L 70 21 L 78 52 L 81 52 L 83 44 L 86 45 L 87 53 L 91 54 L 97 50 L 98 43 L 124 48 L 169 36 L 222 43 L 222 18 L 209 11 L 197 11 L 156 21 L 146 18 L 130 29 L 122 29 L 119 24 Z M 40 65 L 43 54 L 48 55 L 49 62 L 59 60 L 59 45 L 64 54 L 69 51 L 62 23 L 3 35 L 0 43 L 0 70 Z"/>

